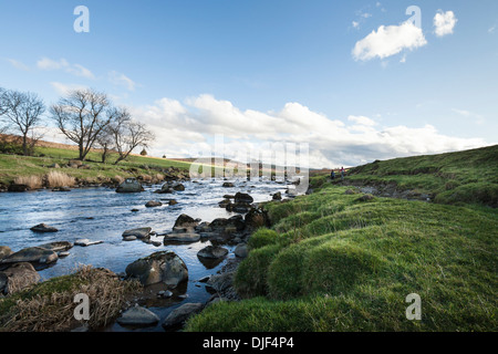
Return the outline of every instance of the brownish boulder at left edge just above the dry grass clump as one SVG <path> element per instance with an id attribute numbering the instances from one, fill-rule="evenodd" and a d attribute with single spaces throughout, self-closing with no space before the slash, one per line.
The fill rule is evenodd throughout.
<path id="1" fill-rule="evenodd" d="M 15 263 L 0 272 L 0 293 L 11 294 L 40 281 L 40 274 L 27 262 Z"/>

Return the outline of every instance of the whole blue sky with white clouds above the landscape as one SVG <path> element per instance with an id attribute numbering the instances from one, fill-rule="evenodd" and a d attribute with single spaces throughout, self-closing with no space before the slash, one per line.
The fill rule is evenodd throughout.
<path id="1" fill-rule="evenodd" d="M 0 86 L 105 92 L 154 156 L 356 166 L 497 144 L 497 25 L 496 0 L 0 0 Z"/>

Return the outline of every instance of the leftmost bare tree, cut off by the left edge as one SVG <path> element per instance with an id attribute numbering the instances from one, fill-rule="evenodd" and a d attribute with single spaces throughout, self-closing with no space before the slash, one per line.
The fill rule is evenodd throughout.
<path id="1" fill-rule="evenodd" d="M 1 102 L 0 110 L 8 129 L 20 133 L 22 152 L 24 155 L 30 155 L 34 144 L 41 137 L 37 135 L 35 128 L 45 112 L 43 101 L 31 92 L 9 90 L 1 93 Z"/>

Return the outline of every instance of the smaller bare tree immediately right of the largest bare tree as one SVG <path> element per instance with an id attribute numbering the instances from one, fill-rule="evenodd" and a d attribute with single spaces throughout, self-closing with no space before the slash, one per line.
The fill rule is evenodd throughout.
<path id="1" fill-rule="evenodd" d="M 154 140 L 154 134 L 147 129 L 145 124 L 132 119 L 126 108 L 116 110 L 116 119 L 111 125 L 114 148 L 118 157 L 114 164 L 124 160 L 139 145 L 148 147 Z"/>

